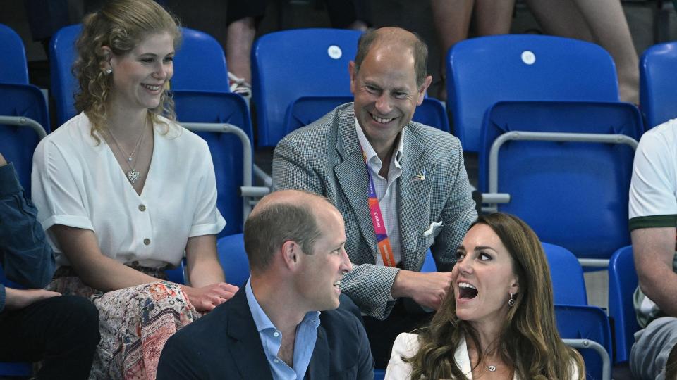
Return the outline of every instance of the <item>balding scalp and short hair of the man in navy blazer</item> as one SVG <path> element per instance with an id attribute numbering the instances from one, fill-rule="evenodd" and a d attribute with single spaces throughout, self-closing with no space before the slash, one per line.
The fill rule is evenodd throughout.
<path id="1" fill-rule="evenodd" d="M 322 232 L 317 214 L 338 210 L 327 198 L 299 190 L 275 191 L 257 203 L 245 222 L 245 251 L 252 272 L 269 267 L 285 241 L 295 241 L 301 251 L 312 255 L 315 240 Z"/>

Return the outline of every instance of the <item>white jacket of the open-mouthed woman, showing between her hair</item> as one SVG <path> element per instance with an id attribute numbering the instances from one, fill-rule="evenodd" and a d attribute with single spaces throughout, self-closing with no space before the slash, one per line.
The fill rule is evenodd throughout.
<path id="1" fill-rule="evenodd" d="M 404 357 L 412 357 L 418 351 L 418 335 L 402 333 L 397 336 L 395 343 L 393 343 L 393 352 L 390 355 L 390 362 L 386 368 L 385 380 L 403 380 L 411 379 L 411 365 L 402 360 Z M 453 353 L 453 360 L 456 365 L 465 374 L 468 380 L 472 380 L 472 367 L 470 366 L 470 356 L 468 356 L 468 346 L 465 344 L 465 338 L 461 338 L 458 348 Z M 578 379 L 578 366 L 575 362 L 572 363 L 574 372 L 571 376 L 572 380 Z M 517 374 L 513 376 L 514 380 L 518 380 Z"/>

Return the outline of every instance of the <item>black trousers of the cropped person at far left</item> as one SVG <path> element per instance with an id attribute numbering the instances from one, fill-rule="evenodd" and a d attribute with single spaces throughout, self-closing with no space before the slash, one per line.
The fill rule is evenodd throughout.
<path id="1" fill-rule="evenodd" d="M 58 296 L 0 313 L 0 361 L 42 360 L 38 379 L 87 379 L 99 343 L 99 310 Z"/>

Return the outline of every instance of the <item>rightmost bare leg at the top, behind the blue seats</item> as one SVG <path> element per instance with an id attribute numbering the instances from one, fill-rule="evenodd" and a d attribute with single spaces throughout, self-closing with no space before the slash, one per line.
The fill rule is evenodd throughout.
<path id="1" fill-rule="evenodd" d="M 621 101 L 639 103 L 639 59 L 621 0 L 575 0 L 597 44 L 616 61 Z"/>

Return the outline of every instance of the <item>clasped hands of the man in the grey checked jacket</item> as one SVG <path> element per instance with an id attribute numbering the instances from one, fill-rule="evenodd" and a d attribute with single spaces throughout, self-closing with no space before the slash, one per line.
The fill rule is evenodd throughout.
<path id="1" fill-rule="evenodd" d="M 451 272 L 420 273 L 401 270 L 395 277 L 391 294 L 393 298 L 413 298 L 419 305 L 437 310 L 450 285 Z"/>

